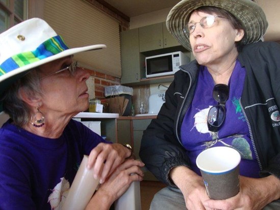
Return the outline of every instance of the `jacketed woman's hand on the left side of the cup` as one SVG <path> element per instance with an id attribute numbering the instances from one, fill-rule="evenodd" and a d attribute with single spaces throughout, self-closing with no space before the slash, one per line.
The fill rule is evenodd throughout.
<path id="1" fill-rule="evenodd" d="M 178 166 L 170 171 L 169 177 L 182 191 L 187 209 L 208 209 L 203 205 L 209 196 L 201 176 L 185 166 Z"/>

